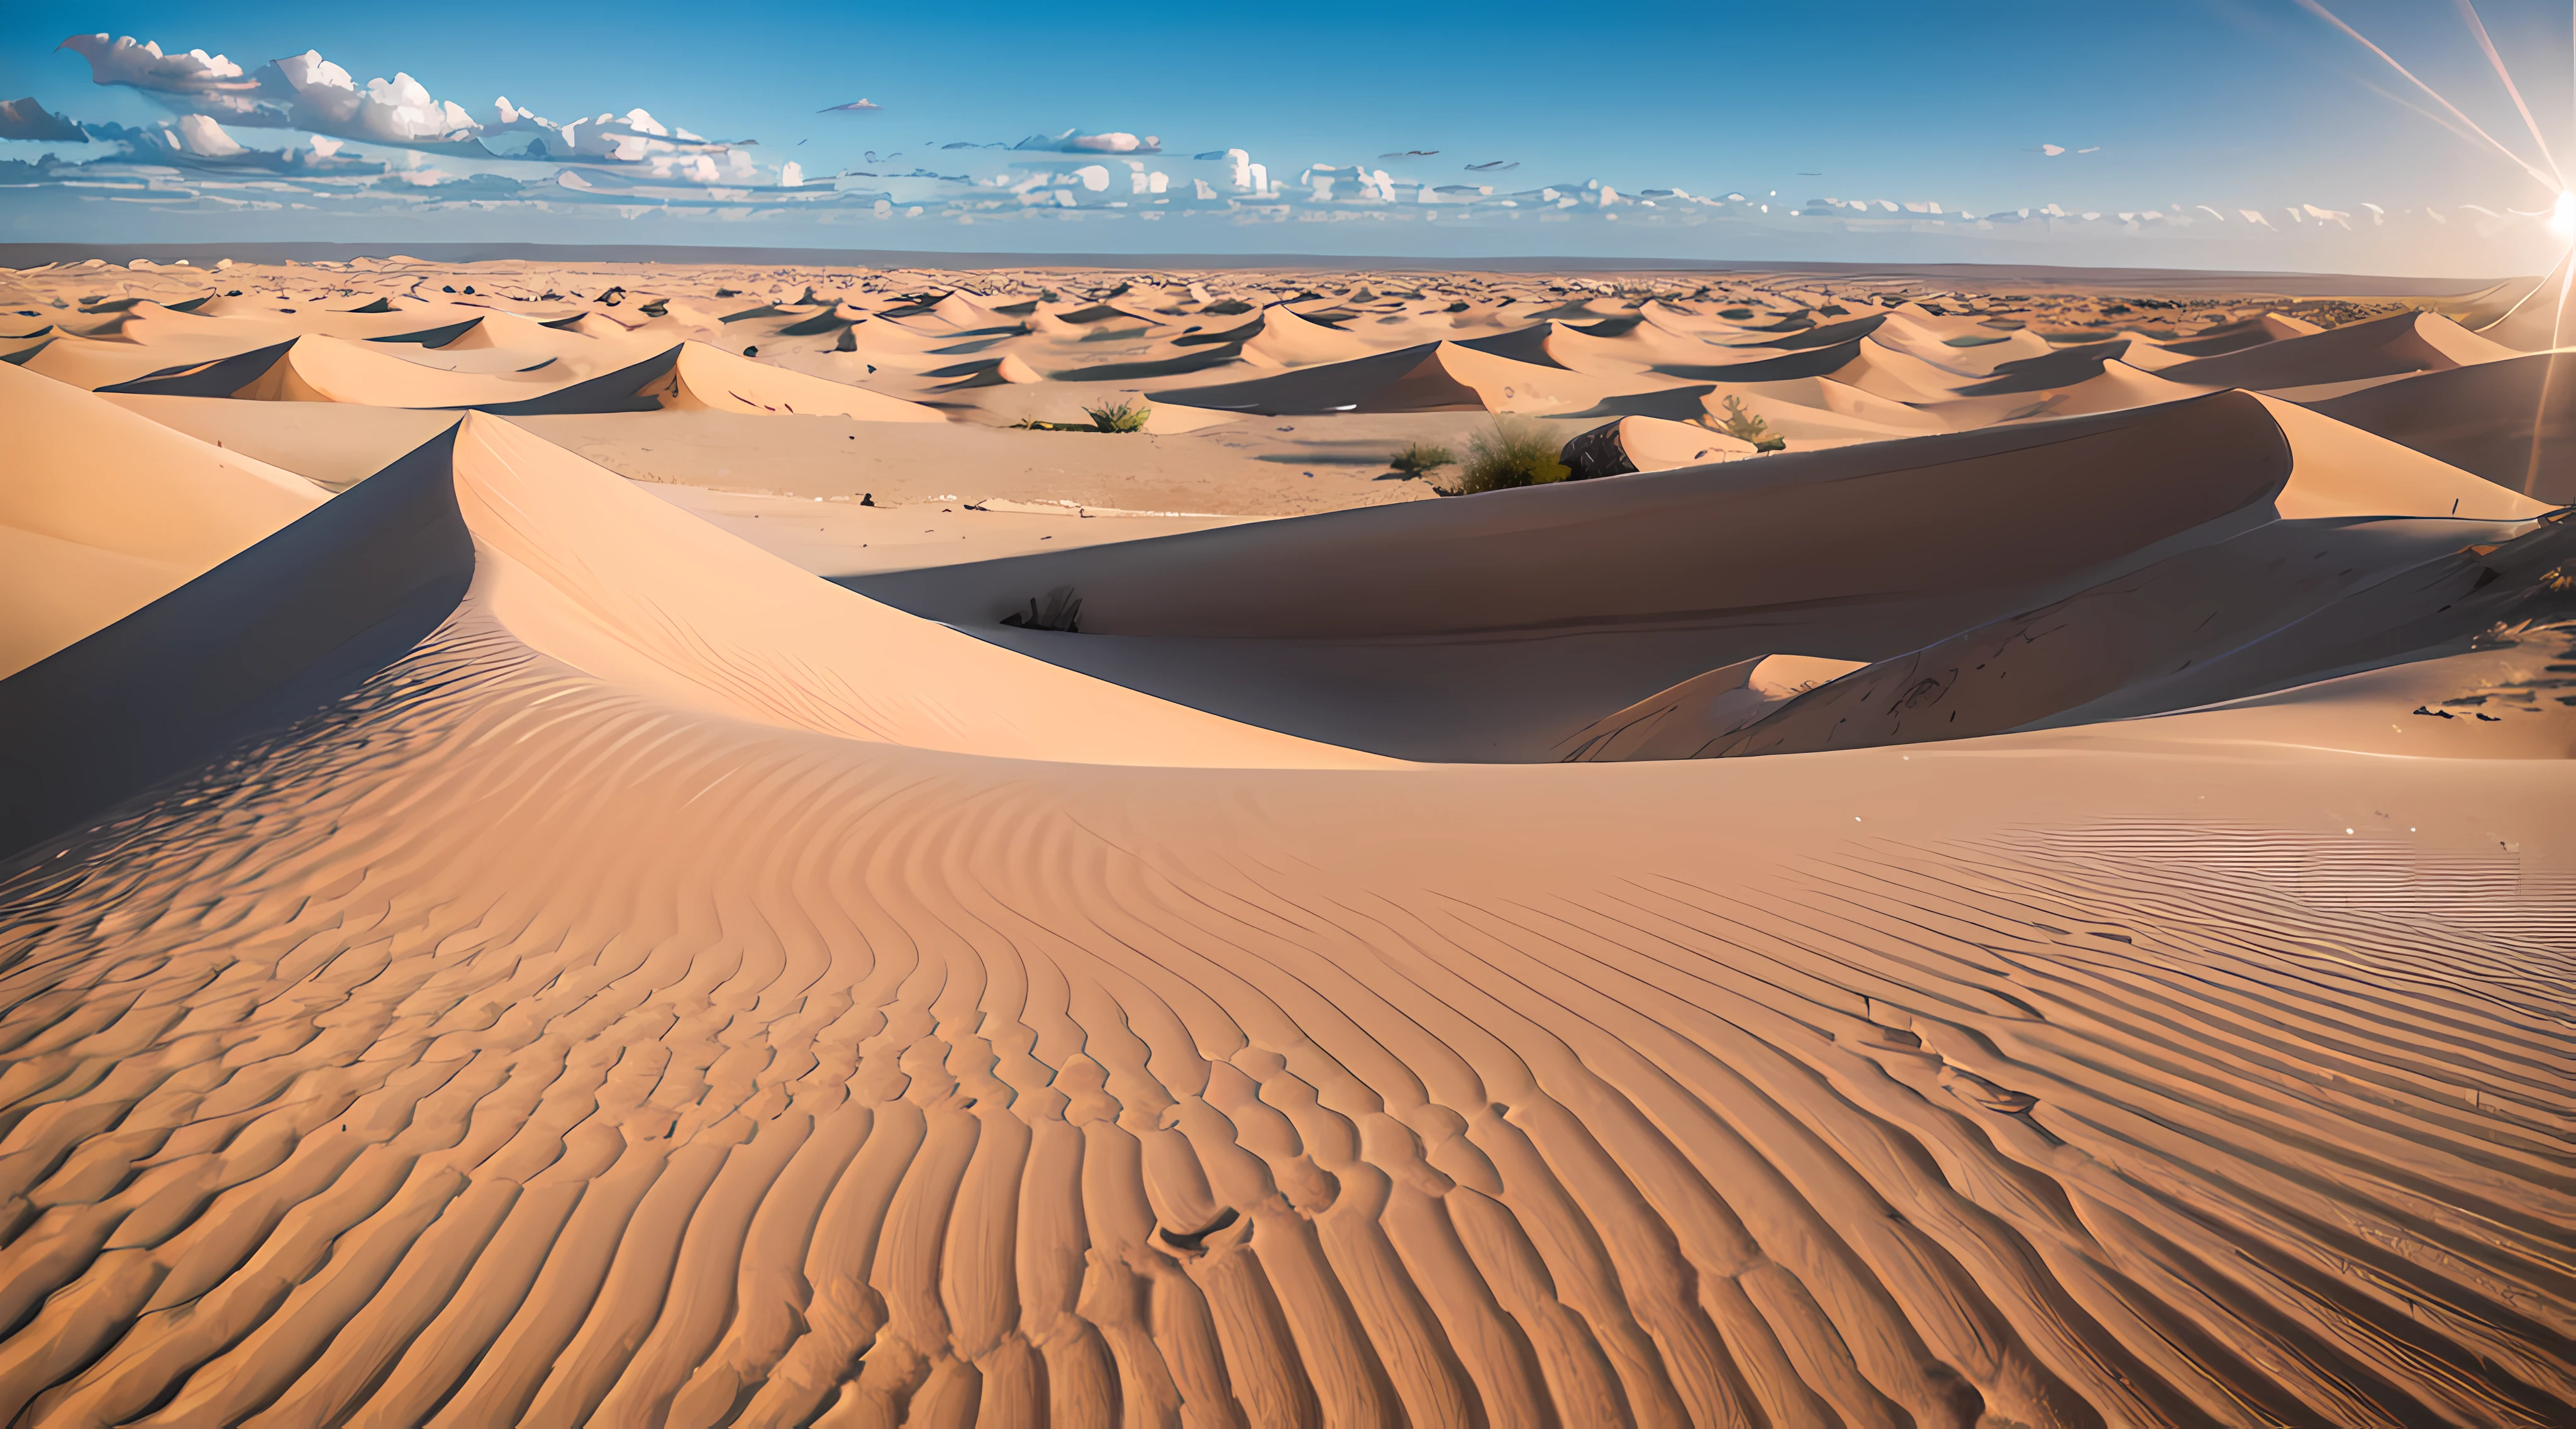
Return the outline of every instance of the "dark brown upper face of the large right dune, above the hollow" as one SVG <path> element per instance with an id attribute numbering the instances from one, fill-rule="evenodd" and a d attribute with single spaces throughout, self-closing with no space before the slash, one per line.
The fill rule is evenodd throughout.
<path id="1" fill-rule="evenodd" d="M 2202 458 L 2184 461 L 2184 453 Z M 2130 479 L 2159 463 L 2172 471 L 2156 481 Z M 925 572 L 907 608 L 922 600 L 920 608 L 943 621 L 989 623 L 1018 608 L 1018 584 L 1043 582 L 1041 590 L 1082 587 L 1087 623 L 1103 633 L 1656 626 L 1723 608 L 1736 592 L 1790 602 L 2074 569 L 2269 500 L 2287 474 L 2290 448 L 2267 407 L 2246 394 L 2218 394 L 1641 481 L 1334 512 L 1257 533 L 1157 541 L 1113 561 L 1077 554 L 1025 569 Z M 2499 497 L 2512 500 L 2509 492 Z M 1984 520 L 1937 543 L 1911 538 L 1935 512 L 1960 505 Z M 1777 530 L 1834 530 L 1834 541 L 1785 548 Z M 969 579 L 992 587 L 971 592 Z"/>

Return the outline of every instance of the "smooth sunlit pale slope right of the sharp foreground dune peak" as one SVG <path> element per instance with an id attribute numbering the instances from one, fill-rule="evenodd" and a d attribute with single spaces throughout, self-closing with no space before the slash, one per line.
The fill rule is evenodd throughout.
<path id="1" fill-rule="evenodd" d="M 510 422 L 466 415 L 471 600 L 652 698 L 920 749 L 1100 765 L 1378 765 L 997 651 L 721 536 Z"/>

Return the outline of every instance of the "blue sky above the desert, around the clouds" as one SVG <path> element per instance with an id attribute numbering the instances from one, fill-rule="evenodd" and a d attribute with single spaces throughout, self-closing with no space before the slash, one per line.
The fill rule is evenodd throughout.
<path id="1" fill-rule="evenodd" d="M 2445 0 L 2344 0 L 2354 28 L 2414 67 L 2499 139 L 2530 152 L 2519 116 L 2460 13 Z M 2481 5 L 2499 51 L 2517 67 L 2543 131 L 2576 167 L 2571 23 L 2563 5 Z M 1311 252 L 1566 252 L 1662 257 L 1886 257 L 2002 263 L 2138 263 L 2221 268 L 2344 268 L 2391 273 L 2506 273 L 2545 265 L 2555 239 L 2537 211 L 2550 191 L 2501 154 L 2416 113 L 2434 108 L 2362 46 L 2295 0 L 2156 3 L 1808 3 L 1808 5 L 1358 5 L 1273 8 L 1141 3 L 1069 5 L 183 5 L 15 3 L 0 8 L 0 98 L 31 95 L 72 121 L 167 126 L 155 98 L 90 82 L 90 67 L 54 46 L 70 33 L 134 36 L 165 51 L 206 49 L 245 72 L 317 49 L 355 82 L 407 72 L 438 100 L 489 121 L 495 95 L 569 121 L 647 108 L 706 139 L 757 139 L 721 183 L 775 183 L 793 160 L 811 185 L 829 175 L 853 198 L 891 193 L 873 237 L 811 234 L 801 209 L 742 198 L 747 214 L 667 209 L 667 193 L 616 191 L 611 173 L 587 209 L 489 201 L 386 211 L 332 193 L 307 211 L 250 211 L 237 201 L 75 201 L 46 185 L 0 188 L 0 239 L 348 237 L 399 232 L 536 242 L 768 242 L 953 250 L 1311 250 Z M 871 113 L 817 113 L 868 98 Z M 2414 106 L 2414 108 L 2409 108 Z M 1278 221 L 1249 216 L 1239 196 L 1213 211 L 1149 229 L 1133 211 L 1079 211 L 1115 188 L 1084 191 L 1041 175 L 1025 154 L 930 149 L 925 142 L 1015 144 L 1030 134 L 1128 131 L 1162 139 L 1154 167 L 1172 183 L 1226 178 L 1190 165 L 1198 152 L 1244 149 L 1273 183 L 1311 198 L 1311 165 L 1386 167 L 1404 188 L 1368 191 L 1412 219 L 1412 185 L 1476 183 L 1492 203 L 1522 193 L 1512 224 Z M 229 126 L 247 147 L 286 142 L 276 129 Z M 2063 154 L 2040 152 L 2043 144 Z M 98 160 L 103 144 L 0 144 L 0 160 L 54 152 Z M 1432 157 L 1381 160 L 1406 149 Z M 2094 149 L 2094 152 L 2081 152 Z M 469 170 L 453 157 L 376 154 L 399 167 Z M 894 167 L 866 154 L 961 170 L 1002 193 L 1028 178 L 1043 198 L 1066 188 L 1048 227 L 981 203 L 984 224 L 958 224 L 963 191 L 868 188 Z M 1468 162 L 1517 170 L 1466 173 Z M 1038 162 L 1043 167 L 1043 160 Z M 987 173 L 989 170 L 989 173 Z M 500 170 L 495 170 L 500 173 Z M 510 183 L 551 188 L 549 165 L 513 165 Z M 598 170 L 585 170 L 598 178 Z M 1012 185 L 994 180 L 1010 178 Z M 196 183 L 185 178 L 185 183 Z M 1654 214 L 1569 206 L 1546 232 L 1520 221 L 1540 209 L 1528 185 L 1618 196 L 1682 191 Z M 536 188 L 531 188 L 533 193 Z M 616 191 L 621 203 L 605 203 Z M 448 188 L 466 193 L 466 188 Z M 1674 203 L 1700 206 L 1690 224 Z M 1772 214 L 1759 203 L 1777 193 Z M 1847 209 L 1801 214 L 1808 198 L 1940 203 L 1870 224 Z M 626 198 L 634 198 L 631 203 Z M 1139 206 L 1144 191 L 1136 193 Z M 1350 209 L 1350 180 L 1329 206 Z M 1548 201 L 1558 203 L 1558 201 Z M 2378 203 L 2372 216 L 2365 203 Z M 909 219 L 909 209 L 925 209 Z M 2020 219 L 2058 206 L 2063 221 Z M 2496 221 L 2460 206 L 2496 214 Z M 603 216 L 608 211 L 618 216 Z M 629 214 L 629 209 L 652 209 Z M 842 209 L 853 209 L 845 203 Z M 1182 201 L 1188 209 L 1188 201 Z M 1257 203 L 1255 203 L 1257 209 Z M 2148 221 L 2117 214 L 2156 209 Z M 2442 219 L 2424 219 L 2432 209 Z M 855 209 L 853 209 L 855 211 Z M 1955 214 L 2007 214 L 1971 232 Z M 2081 221 L 2087 211 L 2102 219 Z M 2264 224 L 2233 214 L 2269 214 Z M 2331 219 L 2308 219 L 2308 211 Z M 2213 214 L 2213 216 L 2200 216 Z M 2285 216 L 2287 214 L 2287 216 Z M 1012 227 L 994 227 L 1002 216 Z M 1327 214 L 1332 216 L 1332 214 Z M 1352 216 L 1352 214 L 1340 214 Z M 2192 216 L 2179 224 L 2174 216 Z M 1628 227 L 1620 229 L 1618 219 Z M 618 224 L 636 229 L 616 232 Z M 760 229 L 716 229 L 750 221 Z M 1479 229 L 1479 224 L 1484 224 Z M 647 232 L 652 229 L 652 232 Z M 2269 229 L 2269 232 L 2267 232 Z M 2311 232 L 2313 229 L 2313 232 Z M 2483 232 L 2481 232 L 2483 229 Z M 1765 252 L 1754 252 L 1765 250 Z"/>

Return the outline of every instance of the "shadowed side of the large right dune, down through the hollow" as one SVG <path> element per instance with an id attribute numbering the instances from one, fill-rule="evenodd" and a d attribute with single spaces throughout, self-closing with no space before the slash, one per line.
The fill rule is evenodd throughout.
<path id="1" fill-rule="evenodd" d="M 853 584 L 1309 739 L 1548 760 L 1569 731 L 1721 664 L 1893 657 L 2161 541 L 2267 523 L 2287 476 L 2280 425 L 2223 394 Z M 994 628 L 1056 587 L 1084 600 L 1079 641 Z"/>

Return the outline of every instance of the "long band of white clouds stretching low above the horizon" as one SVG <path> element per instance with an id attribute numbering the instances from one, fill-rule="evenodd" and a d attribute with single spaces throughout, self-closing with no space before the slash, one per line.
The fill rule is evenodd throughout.
<path id="1" fill-rule="evenodd" d="M 1430 149 L 1293 167 L 1270 167 L 1239 147 L 1182 157 L 1164 154 L 1157 134 L 1123 129 L 1064 129 L 1015 144 L 933 139 L 917 152 L 940 167 L 917 160 L 902 173 L 873 165 L 809 175 L 793 160 L 765 162 L 752 152 L 755 139 L 706 139 L 662 124 L 644 108 L 554 121 L 507 98 L 495 98 L 477 113 L 435 98 L 407 72 L 361 85 L 317 49 L 258 70 L 204 49 L 173 54 L 152 41 L 108 33 L 70 36 L 59 49 L 80 54 L 95 85 L 134 90 L 170 111 L 170 118 L 144 126 L 82 124 L 33 98 L 0 103 L 0 139 L 18 147 L 85 147 L 72 157 L 52 149 L 15 157 L 23 149 L 0 149 L 0 214 L 18 209 L 21 216 L 44 219 L 126 203 L 157 216 L 188 216 L 193 237 L 222 237 L 214 224 L 255 214 L 307 214 L 314 221 L 309 237 L 335 237 L 327 219 L 361 221 L 340 224 L 353 229 L 366 219 L 443 216 L 451 227 L 479 224 L 484 237 L 526 237 L 523 229 L 513 232 L 513 221 L 680 219 L 765 224 L 781 229 L 781 245 L 809 242 L 788 237 L 786 229 L 796 227 L 899 224 L 909 232 L 899 239 L 889 234 L 886 247 L 1043 250 L 1066 245 L 1056 234 L 979 234 L 963 242 L 922 229 L 997 221 L 1231 221 L 1296 224 L 1296 237 L 1311 239 L 1316 234 L 1306 224 L 1373 221 L 1417 224 L 1425 237 L 1432 229 L 1461 234 L 1530 224 L 1525 252 L 1569 252 L 1574 234 L 1538 232 L 1535 224 L 1592 224 L 1592 234 L 1620 227 L 1631 245 L 1641 242 L 1641 229 L 1669 232 L 1672 242 L 1664 247 L 1677 257 L 1703 242 L 1777 247 L 1821 234 L 1862 234 L 1891 245 L 1963 239 L 1965 247 L 1991 245 L 1994 260 L 2045 260 L 2027 250 L 2050 239 L 2161 237 L 2169 242 L 2159 252 L 2177 242 L 2233 239 L 2226 245 L 2233 263 L 2244 263 L 2249 239 L 2262 239 L 2280 250 L 2269 255 L 2269 265 L 2300 268 L 2321 260 L 2282 247 L 2303 237 L 2324 239 L 2331 260 L 2349 263 L 2357 250 L 2352 239 L 2372 229 L 2383 237 L 2393 237 L 2388 229 L 2411 229 L 2447 239 L 2532 239 L 2550 219 L 2545 209 L 2458 203 L 2445 211 L 2375 201 L 2329 206 L 2308 196 L 2275 196 L 2264 206 L 2159 201 L 2128 209 L 2030 203 L 1968 211 L 1919 193 L 1783 198 L 1767 188 L 1623 191 L 1582 175 L 1525 183 L 1510 175 L 1520 167 L 1510 160 L 1427 173 L 1430 160 L 1437 160 Z M 884 108 L 871 100 L 819 113 L 863 113 L 871 126 L 886 124 Z M 88 149 L 90 144 L 98 149 Z M 2025 152 L 2061 160 L 2102 149 L 2050 142 Z M 868 160 L 873 157 L 871 152 Z M 940 173 L 943 167 L 963 173 Z M 276 232 L 263 229 L 258 237 Z M 598 229 L 585 237 L 618 242 Z M 726 232 L 721 239 L 739 245 L 742 234 Z M 662 234 L 659 242 L 690 239 Z M 1368 250 L 1373 239 L 1352 242 Z M 1193 245 L 1208 247 L 1175 232 L 1139 232 L 1128 239 L 1128 247 L 1162 252 Z"/>

